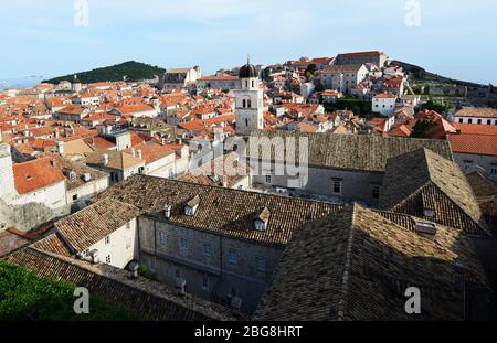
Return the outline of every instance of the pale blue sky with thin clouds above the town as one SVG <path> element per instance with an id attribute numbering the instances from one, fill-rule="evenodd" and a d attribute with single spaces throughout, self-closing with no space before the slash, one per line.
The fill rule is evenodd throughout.
<path id="1" fill-rule="evenodd" d="M 0 78 L 59 76 L 135 60 L 204 73 L 339 52 L 382 50 L 446 76 L 497 84 L 497 1 L 419 0 L 421 26 L 405 25 L 408 0 L 74 0 L 0 6 Z"/>

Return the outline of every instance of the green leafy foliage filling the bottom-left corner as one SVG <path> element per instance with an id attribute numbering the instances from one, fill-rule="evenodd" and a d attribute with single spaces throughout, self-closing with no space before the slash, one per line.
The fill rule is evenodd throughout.
<path id="1" fill-rule="evenodd" d="M 89 294 L 89 314 L 73 310 L 75 286 L 0 260 L 0 321 L 130 321 L 138 315 Z"/>

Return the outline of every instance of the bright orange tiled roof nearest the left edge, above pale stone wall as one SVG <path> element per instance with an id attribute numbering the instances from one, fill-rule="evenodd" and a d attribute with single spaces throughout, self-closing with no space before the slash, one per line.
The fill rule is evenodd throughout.
<path id="1" fill-rule="evenodd" d="M 15 190 L 19 194 L 34 192 L 65 180 L 50 158 L 13 164 Z"/>

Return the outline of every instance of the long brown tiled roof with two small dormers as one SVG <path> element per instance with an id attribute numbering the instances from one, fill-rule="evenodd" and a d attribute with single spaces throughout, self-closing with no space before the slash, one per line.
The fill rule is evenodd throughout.
<path id="1" fill-rule="evenodd" d="M 186 205 L 198 195 L 194 215 L 184 215 Z M 293 232 L 305 223 L 341 208 L 329 203 L 145 175 L 134 175 L 98 195 L 106 197 L 137 206 L 142 214 L 172 225 L 276 246 L 287 244 Z M 171 206 L 169 219 L 163 215 L 166 206 Z M 254 221 L 264 207 L 271 212 L 271 218 L 267 229 L 257 232 Z"/>

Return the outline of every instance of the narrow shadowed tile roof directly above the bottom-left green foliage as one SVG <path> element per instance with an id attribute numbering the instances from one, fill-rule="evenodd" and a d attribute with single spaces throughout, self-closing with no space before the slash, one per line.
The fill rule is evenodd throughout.
<path id="1" fill-rule="evenodd" d="M 9 255 L 7 262 L 25 267 L 40 277 L 57 278 L 85 287 L 92 294 L 116 303 L 144 319 L 155 321 L 230 321 L 230 309 L 186 294 L 129 271 L 108 265 L 92 265 L 28 247 Z"/>

